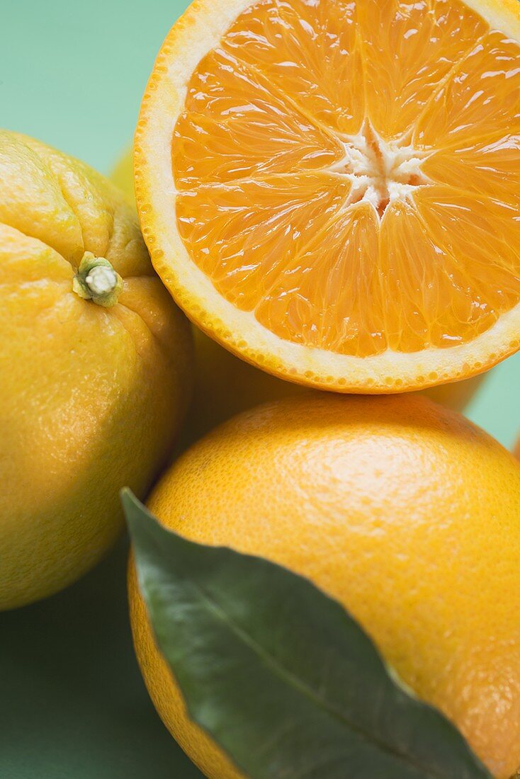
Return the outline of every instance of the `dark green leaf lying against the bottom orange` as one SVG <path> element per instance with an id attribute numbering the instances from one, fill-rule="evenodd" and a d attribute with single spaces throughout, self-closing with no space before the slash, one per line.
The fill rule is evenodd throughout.
<path id="1" fill-rule="evenodd" d="M 129 491 L 122 501 L 189 715 L 250 779 L 490 779 L 454 725 L 406 693 L 310 581 L 187 541 Z"/>

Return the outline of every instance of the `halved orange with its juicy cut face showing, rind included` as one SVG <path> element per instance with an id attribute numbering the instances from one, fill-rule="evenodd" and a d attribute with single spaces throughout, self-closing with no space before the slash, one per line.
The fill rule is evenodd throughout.
<path id="1" fill-rule="evenodd" d="M 517 0 L 196 0 L 136 130 L 157 272 L 267 371 L 394 392 L 520 347 Z"/>

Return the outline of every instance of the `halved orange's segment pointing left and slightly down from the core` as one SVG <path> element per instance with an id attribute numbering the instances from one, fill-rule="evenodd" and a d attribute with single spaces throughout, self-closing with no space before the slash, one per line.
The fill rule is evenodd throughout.
<path id="1" fill-rule="evenodd" d="M 323 234 L 349 190 L 348 181 L 330 174 L 200 186 L 179 193 L 179 232 L 218 291 L 249 311 L 281 277 L 299 275 L 306 242 Z"/>

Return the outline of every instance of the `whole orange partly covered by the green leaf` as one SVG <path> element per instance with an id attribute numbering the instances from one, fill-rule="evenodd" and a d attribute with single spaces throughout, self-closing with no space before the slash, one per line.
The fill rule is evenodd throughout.
<path id="1" fill-rule="evenodd" d="M 187 538 L 288 566 L 338 598 L 497 779 L 520 766 L 520 466 L 424 397 L 281 400 L 189 449 L 150 509 Z M 186 717 L 129 566 L 152 700 L 210 779 L 238 774 Z"/>

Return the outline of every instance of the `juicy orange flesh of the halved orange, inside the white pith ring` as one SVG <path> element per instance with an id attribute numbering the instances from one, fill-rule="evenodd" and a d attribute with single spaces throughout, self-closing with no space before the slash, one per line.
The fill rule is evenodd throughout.
<path id="1" fill-rule="evenodd" d="M 278 337 L 464 344 L 520 301 L 520 47 L 458 0 L 263 0 L 189 81 L 177 224 Z"/>

